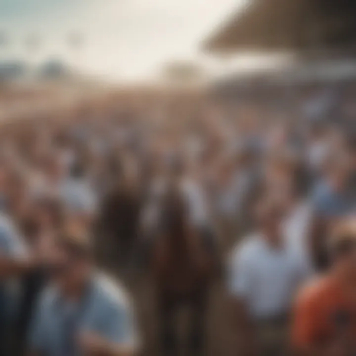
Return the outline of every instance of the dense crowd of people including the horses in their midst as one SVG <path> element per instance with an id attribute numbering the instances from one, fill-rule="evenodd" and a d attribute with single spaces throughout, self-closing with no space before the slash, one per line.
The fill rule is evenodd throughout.
<path id="1" fill-rule="evenodd" d="M 182 307 L 205 354 L 216 279 L 234 354 L 355 355 L 355 122 L 299 114 L 138 95 L 3 123 L 0 355 L 142 352 L 128 270 L 163 355 Z"/>

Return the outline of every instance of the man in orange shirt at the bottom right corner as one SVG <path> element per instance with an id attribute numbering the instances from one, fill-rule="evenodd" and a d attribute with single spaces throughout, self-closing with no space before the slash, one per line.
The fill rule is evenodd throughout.
<path id="1" fill-rule="evenodd" d="M 356 224 L 341 223 L 329 241 L 332 266 L 297 299 L 293 344 L 301 356 L 356 353 Z"/>

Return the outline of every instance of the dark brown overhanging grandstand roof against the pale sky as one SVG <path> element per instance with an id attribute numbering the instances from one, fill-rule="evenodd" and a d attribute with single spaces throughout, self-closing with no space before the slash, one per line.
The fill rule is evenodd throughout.
<path id="1" fill-rule="evenodd" d="M 212 52 L 340 49 L 356 44 L 354 0 L 250 0 L 212 34 Z"/>

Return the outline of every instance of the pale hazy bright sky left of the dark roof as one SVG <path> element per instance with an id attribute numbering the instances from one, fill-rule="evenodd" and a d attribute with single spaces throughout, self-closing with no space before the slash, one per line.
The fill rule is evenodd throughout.
<path id="1" fill-rule="evenodd" d="M 199 61 L 199 44 L 246 0 L 0 0 L 1 58 L 57 58 L 89 74 L 135 80 L 173 60 Z M 1 36 L 2 34 L 2 36 Z M 68 44 L 80 34 L 82 45 Z M 25 45 L 38 38 L 38 48 Z"/>

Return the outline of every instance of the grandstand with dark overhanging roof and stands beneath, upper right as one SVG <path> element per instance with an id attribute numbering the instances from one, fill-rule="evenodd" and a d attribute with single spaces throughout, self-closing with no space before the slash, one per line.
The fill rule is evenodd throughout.
<path id="1" fill-rule="evenodd" d="M 285 116 L 354 117 L 356 1 L 250 0 L 203 42 L 217 58 L 287 55 L 274 68 L 225 71 L 214 90 Z M 336 108 L 336 109 L 335 109 Z M 265 110 L 264 109 L 264 110 Z"/>

